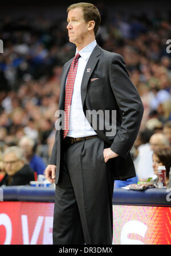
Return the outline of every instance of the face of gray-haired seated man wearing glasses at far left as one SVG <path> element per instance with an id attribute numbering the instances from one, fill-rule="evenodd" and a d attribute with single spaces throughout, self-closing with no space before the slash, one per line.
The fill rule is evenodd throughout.
<path id="1" fill-rule="evenodd" d="M 14 152 L 6 154 L 3 161 L 5 164 L 5 171 L 9 176 L 17 173 L 24 165 L 24 162 L 19 160 Z"/>

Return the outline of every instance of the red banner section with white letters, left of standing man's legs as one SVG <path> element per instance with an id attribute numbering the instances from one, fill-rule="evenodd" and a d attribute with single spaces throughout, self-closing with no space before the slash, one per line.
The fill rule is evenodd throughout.
<path id="1" fill-rule="evenodd" d="M 52 244 L 54 203 L 1 202 L 0 244 Z"/>

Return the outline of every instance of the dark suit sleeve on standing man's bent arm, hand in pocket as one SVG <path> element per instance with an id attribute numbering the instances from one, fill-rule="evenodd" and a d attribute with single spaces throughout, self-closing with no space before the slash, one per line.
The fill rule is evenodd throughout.
<path id="1" fill-rule="evenodd" d="M 136 87 L 129 79 L 125 61 L 121 55 L 113 56 L 109 76 L 113 94 L 123 112 L 121 125 L 111 149 L 127 158 L 139 132 L 144 107 Z"/>

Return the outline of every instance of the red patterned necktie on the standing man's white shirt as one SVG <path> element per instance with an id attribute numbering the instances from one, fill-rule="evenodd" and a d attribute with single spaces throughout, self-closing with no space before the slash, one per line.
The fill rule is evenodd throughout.
<path id="1" fill-rule="evenodd" d="M 75 55 L 75 58 L 72 60 L 70 70 L 68 72 L 67 83 L 66 83 L 66 94 L 65 94 L 65 105 L 64 105 L 64 131 L 63 137 L 67 136 L 69 131 L 69 116 L 71 108 L 71 100 L 75 83 L 76 71 L 78 68 L 78 60 L 80 58 L 79 53 Z"/>

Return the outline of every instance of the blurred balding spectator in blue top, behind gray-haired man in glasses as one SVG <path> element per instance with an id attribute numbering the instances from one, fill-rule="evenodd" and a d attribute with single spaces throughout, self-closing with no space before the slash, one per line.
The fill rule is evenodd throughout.
<path id="1" fill-rule="evenodd" d="M 34 140 L 32 140 L 30 137 L 23 136 L 22 139 L 19 140 L 19 147 L 23 149 L 23 153 L 28 164 L 34 170 L 36 180 L 36 176 L 39 174 L 44 174 L 46 164 L 40 156 L 35 155 L 36 148 Z"/>

